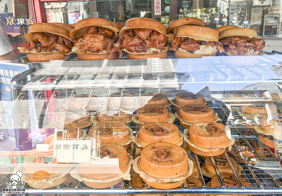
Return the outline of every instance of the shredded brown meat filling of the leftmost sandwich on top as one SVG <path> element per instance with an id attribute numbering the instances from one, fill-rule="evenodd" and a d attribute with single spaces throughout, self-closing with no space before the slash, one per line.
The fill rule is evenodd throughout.
<path id="1" fill-rule="evenodd" d="M 31 33 L 29 43 L 24 47 L 27 51 L 35 49 L 37 52 L 60 51 L 68 53 L 72 48 L 72 43 L 65 37 L 51 33 Z"/>

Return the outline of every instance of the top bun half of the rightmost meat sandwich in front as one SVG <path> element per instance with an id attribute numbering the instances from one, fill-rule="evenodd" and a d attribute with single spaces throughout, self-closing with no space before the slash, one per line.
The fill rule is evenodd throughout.
<path id="1" fill-rule="evenodd" d="M 219 39 L 232 36 L 242 36 L 250 38 L 254 37 L 257 39 L 261 39 L 260 37 L 258 37 L 258 34 L 255 30 L 249 28 L 228 28 L 219 33 Z"/>

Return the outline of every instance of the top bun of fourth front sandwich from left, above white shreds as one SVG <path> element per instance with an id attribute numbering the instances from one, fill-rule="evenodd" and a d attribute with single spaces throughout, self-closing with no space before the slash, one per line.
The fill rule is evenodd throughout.
<path id="1" fill-rule="evenodd" d="M 218 42 L 219 33 L 209 27 L 199 27 L 194 25 L 186 25 L 178 27 L 175 37 L 189 37 L 195 40 L 215 41 Z"/>

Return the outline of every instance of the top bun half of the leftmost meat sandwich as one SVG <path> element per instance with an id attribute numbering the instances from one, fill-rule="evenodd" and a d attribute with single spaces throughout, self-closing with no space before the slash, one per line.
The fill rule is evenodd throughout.
<path id="1" fill-rule="evenodd" d="M 44 22 L 30 25 L 29 32 L 24 35 L 25 39 L 29 42 L 31 39 L 31 33 L 36 33 L 36 32 L 52 33 L 55 35 L 65 37 L 70 41 L 72 41 L 70 39 L 70 32 L 67 29 L 55 24 L 44 23 Z"/>

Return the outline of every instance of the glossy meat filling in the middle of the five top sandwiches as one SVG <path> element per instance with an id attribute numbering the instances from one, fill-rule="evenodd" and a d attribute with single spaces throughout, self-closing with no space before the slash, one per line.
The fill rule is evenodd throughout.
<path id="1" fill-rule="evenodd" d="M 122 41 L 119 40 L 119 43 L 130 52 L 141 53 L 147 52 L 149 48 L 165 50 L 167 49 L 166 41 L 167 37 L 163 33 L 152 29 L 136 28 L 125 32 Z"/>

